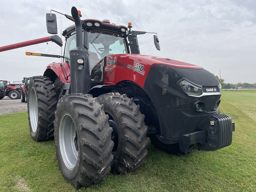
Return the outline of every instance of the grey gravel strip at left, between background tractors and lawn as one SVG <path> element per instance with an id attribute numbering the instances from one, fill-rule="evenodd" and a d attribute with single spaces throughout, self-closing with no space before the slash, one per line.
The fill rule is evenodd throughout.
<path id="1" fill-rule="evenodd" d="M 21 103 L 20 99 L 12 100 L 4 97 L 0 100 L 0 115 L 28 111 L 27 103 Z"/>

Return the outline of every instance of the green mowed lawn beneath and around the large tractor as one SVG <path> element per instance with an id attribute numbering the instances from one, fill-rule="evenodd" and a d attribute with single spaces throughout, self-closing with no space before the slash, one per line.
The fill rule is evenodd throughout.
<path id="1" fill-rule="evenodd" d="M 230 146 L 174 156 L 149 144 L 138 170 L 79 190 L 62 177 L 54 142 L 31 139 L 27 113 L 0 115 L 0 191 L 256 191 L 256 90 L 222 91 L 219 109 L 236 124 Z"/>

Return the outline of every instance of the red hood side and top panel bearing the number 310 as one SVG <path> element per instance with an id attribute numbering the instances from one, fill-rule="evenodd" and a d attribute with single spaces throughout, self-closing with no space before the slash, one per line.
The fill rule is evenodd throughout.
<path id="1" fill-rule="evenodd" d="M 202 67 L 177 60 L 136 54 L 109 55 L 106 57 L 105 62 L 104 84 L 106 85 L 128 80 L 143 87 L 149 69 L 156 64 L 177 68 L 203 69 Z"/>

